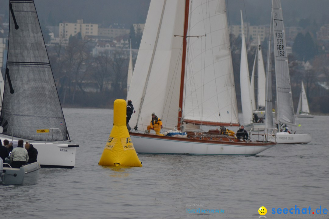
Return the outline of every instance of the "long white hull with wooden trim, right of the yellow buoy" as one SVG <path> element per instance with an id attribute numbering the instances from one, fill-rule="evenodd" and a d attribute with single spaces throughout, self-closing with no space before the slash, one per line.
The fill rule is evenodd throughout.
<path id="1" fill-rule="evenodd" d="M 256 155 L 276 143 L 239 142 L 227 138 L 227 142 L 199 139 L 183 139 L 141 133 L 129 133 L 139 154 L 191 154 L 191 155 Z"/>

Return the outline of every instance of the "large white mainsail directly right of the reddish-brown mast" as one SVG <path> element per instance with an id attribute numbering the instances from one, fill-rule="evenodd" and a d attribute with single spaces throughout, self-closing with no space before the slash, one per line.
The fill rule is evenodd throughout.
<path id="1" fill-rule="evenodd" d="M 191 1 L 184 120 L 239 123 L 224 0 Z"/>

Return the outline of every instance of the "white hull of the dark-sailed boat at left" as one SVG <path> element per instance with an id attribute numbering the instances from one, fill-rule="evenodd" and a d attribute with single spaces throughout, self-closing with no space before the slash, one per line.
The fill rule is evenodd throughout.
<path id="1" fill-rule="evenodd" d="M 10 138 L 1 137 L 1 141 Z M 13 140 L 13 146 L 17 147 L 18 140 Z M 38 150 L 38 162 L 41 167 L 69 168 L 75 165 L 75 152 L 78 144 L 30 142 Z"/>

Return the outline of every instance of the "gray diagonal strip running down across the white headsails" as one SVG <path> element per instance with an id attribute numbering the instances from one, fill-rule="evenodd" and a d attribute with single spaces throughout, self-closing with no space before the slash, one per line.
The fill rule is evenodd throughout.
<path id="1" fill-rule="evenodd" d="M 146 82 L 145 82 L 145 85 L 144 85 L 143 95 L 142 95 L 142 98 L 140 100 L 138 117 L 137 117 L 137 121 L 136 121 L 136 126 L 134 127 L 135 130 L 137 130 L 137 124 L 138 124 L 138 121 L 139 121 L 139 118 L 140 118 L 140 114 L 141 114 L 141 111 L 142 111 L 142 106 L 143 106 L 144 99 L 145 99 L 145 94 L 146 94 L 148 80 L 149 80 L 150 75 L 151 75 L 151 69 L 152 69 L 153 60 L 154 60 L 156 48 L 157 48 L 158 41 L 159 41 L 159 35 L 160 35 L 162 20 L 163 20 L 163 17 L 164 17 L 164 9 L 165 9 L 166 2 L 167 2 L 167 0 L 164 0 L 164 5 L 162 7 L 162 12 L 161 12 L 161 17 L 160 17 L 160 22 L 159 22 L 159 27 L 158 27 L 158 32 L 157 32 L 157 36 L 156 36 L 154 47 L 153 47 L 152 58 L 151 58 L 151 61 L 150 61 L 150 65 L 148 67 L 148 72 L 147 72 Z"/>

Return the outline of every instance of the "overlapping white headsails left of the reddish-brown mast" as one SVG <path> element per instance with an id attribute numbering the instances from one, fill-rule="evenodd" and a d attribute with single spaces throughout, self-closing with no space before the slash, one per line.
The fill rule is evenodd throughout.
<path id="1" fill-rule="evenodd" d="M 150 124 L 152 112 L 164 127 L 177 125 L 184 9 L 184 1 L 150 3 L 127 97 L 136 111 L 129 123 L 139 130 Z"/>

